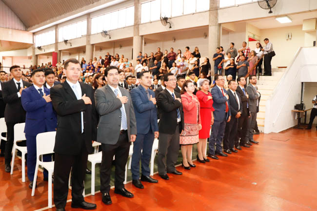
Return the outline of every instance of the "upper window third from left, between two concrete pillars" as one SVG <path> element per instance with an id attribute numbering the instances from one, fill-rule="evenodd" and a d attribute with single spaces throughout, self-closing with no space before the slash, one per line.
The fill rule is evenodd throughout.
<path id="1" fill-rule="evenodd" d="M 103 30 L 113 30 L 134 24 L 134 6 L 113 11 L 91 19 L 91 34 L 97 34 Z"/>

